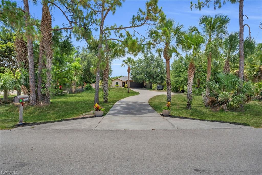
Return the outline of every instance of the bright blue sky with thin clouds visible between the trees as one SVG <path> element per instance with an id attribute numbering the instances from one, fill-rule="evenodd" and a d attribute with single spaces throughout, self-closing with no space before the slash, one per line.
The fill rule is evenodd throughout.
<path id="1" fill-rule="evenodd" d="M 128 26 L 129 21 L 133 14 L 136 14 L 139 8 L 144 9 L 146 1 L 125 1 L 122 8 L 118 8 L 115 15 L 108 15 L 105 21 L 107 25 L 117 25 Z M 22 1 L 17 1 L 18 5 L 23 7 Z M 222 6 L 220 9 L 214 10 L 212 6 L 210 8 L 203 8 L 201 11 L 192 9 L 190 10 L 190 1 L 159 1 L 159 6 L 162 7 L 163 12 L 166 14 L 167 18 L 173 18 L 176 22 L 183 24 L 184 29 L 187 29 L 189 25 L 198 26 L 198 19 L 202 15 L 211 15 L 215 16 L 217 13 L 226 14 L 231 18 L 230 24 L 228 26 L 228 32 L 239 31 L 238 23 L 238 7 L 239 4 L 230 4 L 227 3 Z M 30 13 L 32 16 L 41 19 L 42 7 L 40 1 L 38 4 L 31 5 L 29 3 Z M 262 1 L 244 1 L 243 14 L 246 14 L 249 19 L 244 17 L 244 23 L 247 23 L 251 29 L 251 36 L 256 39 L 256 42 L 262 42 L 262 30 L 259 28 L 259 23 L 262 20 Z M 52 9 L 52 26 L 61 26 L 63 23 L 66 23 L 66 19 L 62 16 L 61 12 L 53 8 Z M 148 27 L 139 27 L 136 30 L 142 35 L 146 35 Z M 131 30 L 130 30 L 131 31 Z M 96 36 L 98 33 L 93 32 L 93 35 Z M 244 28 L 244 37 L 248 36 L 248 28 Z M 139 36 L 138 36 L 139 37 Z M 75 46 L 85 46 L 85 42 L 76 41 L 72 38 L 73 44 Z M 139 56 L 138 56 L 139 57 Z M 135 58 L 135 57 L 134 57 Z M 125 58 L 122 58 L 125 59 Z M 135 58 L 137 59 L 137 58 Z M 171 61 L 172 62 L 172 61 Z M 127 75 L 127 68 L 121 67 L 122 60 L 113 61 L 112 64 L 112 76 L 118 75 Z"/>

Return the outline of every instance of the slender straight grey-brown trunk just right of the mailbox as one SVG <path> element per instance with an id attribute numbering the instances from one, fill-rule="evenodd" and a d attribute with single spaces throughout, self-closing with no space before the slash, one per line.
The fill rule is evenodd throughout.
<path id="1" fill-rule="evenodd" d="M 30 25 L 30 13 L 28 1 L 24 0 L 24 9 L 27 13 L 25 18 L 25 27 L 31 27 Z M 27 52 L 28 52 L 28 66 L 29 66 L 29 88 L 30 88 L 30 105 L 36 104 L 36 92 L 35 92 L 35 67 L 34 67 L 34 54 L 33 54 L 33 41 L 29 34 L 27 37 Z"/>

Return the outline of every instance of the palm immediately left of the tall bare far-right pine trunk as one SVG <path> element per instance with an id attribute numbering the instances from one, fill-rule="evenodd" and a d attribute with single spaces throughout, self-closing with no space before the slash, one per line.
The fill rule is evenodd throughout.
<path id="1" fill-rule="evenodd" d="M 225 60 L 225 66 L 223 72 L 225 74 L 230 73 L 230 63 L 236 62 L 238 59 L 238 47 L 239 46 L 239 33 L 231 32 L 222 41 L 222 53 L 221 56 Z"/>

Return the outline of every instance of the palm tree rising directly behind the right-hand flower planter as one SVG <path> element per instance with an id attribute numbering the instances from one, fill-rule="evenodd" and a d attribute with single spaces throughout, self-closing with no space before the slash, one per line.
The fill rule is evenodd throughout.
<path id="1" fill-rule="evenodd" d="M 172 54 L 170 54 L 170 50 L 179 55 L 173 46 L 173 41 L 183 33 L 181 32 L 183 25 L 175 25 L 175 23 L 173 19 L 165 19 L 148 32 L 148 37 L 151 40 L 147 42 L 148 49 L 156 49 L 159 55 L 163 54 L 166 60 L 167 102 L 171 102 L 170 59 Z"/>

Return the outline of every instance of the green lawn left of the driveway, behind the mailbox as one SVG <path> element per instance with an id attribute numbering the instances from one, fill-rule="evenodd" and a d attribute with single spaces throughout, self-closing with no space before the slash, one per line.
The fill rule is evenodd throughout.
<path id="1" fill-rule="evenodd" d="M 84 91 L 77 94 L 53 96 L 50 105 L 25 106 L 23 122 L 56 121 L 78 117 L 81 114 L 94 110 L 95 90 Z M 138 92 L 126 88 L 109 88 L 108 103 L 103 103 L 103 90 L 99 90 L 100 105 L 105 108 L 104 115 L 120 99 L 137 95 Z M 9 129 L 18 123 L 19 106 L 14 104 L 1 105 L 0 128 Z"/>

